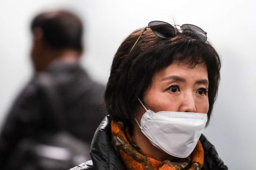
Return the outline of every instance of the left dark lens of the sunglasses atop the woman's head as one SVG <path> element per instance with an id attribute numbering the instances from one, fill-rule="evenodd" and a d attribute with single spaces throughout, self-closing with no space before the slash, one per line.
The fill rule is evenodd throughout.
<path id="1" fill-rule="evenodd" d="M 175 29 L 169 23 L 163 21 L 151 21 L 148 23 L 152 32 L 160 38 L 171 38 L 175 36 Z"/>

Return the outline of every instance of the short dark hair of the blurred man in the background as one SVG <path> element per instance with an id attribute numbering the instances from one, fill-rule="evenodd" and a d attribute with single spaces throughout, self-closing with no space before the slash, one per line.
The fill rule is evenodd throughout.
<path id="1" fill-rule="evenodd" d="M 80 18 L 70 11 L 47 11 L 35 16 L 31 30 L 41 28 L 43 40 L 56 49 L 82 50 L 83 26 Z"/>

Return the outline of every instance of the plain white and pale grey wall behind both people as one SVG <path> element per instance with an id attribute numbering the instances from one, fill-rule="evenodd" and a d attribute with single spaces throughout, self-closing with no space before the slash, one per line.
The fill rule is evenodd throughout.
<path id="1" fill-rule="evenodd" d="M 207 31 L 222 59 L 221 84 L 205 135 L 230 170 L 255 163 L 256 3 L 253 0 L 1 0 L 0 123 L 31 76 L 29 23 L 41 9 L 69 7 L 86 22 L 83 65 L 106 83 L 122 40 L 152 20 Z"/>

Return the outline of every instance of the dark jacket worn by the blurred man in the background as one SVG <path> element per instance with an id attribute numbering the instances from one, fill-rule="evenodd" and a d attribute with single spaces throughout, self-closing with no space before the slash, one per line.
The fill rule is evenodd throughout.
<path id="1" fill-rule="evenodd" d="M 77 63 L 52 63 L 46 74 L 52 77 L 63 110 L 66 130 L 90 144 L 96 128 L 105 117 L 103 94 L 105 86 L 94 82 Z M 24 138 L 59 129 L 52 117 L 38 76 L 21 91 L 7 114 L 0 134 L 0 169 L 3 170 L 15 147 Z M 7 168 L 8 169 L 8 168 Z"/>

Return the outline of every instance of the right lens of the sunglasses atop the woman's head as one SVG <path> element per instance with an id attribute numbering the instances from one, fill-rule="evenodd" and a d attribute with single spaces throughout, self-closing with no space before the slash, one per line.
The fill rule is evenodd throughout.
<path id="1" fill-rule="evenodd" d="M 202 30 L 198 26 L 194 26 L 191 24 L 183 24 L 181 26 L 181 28 L 190 37 L 197 39 L 197 40 L 201 40 L 203 42 L 206 42 L 207 36 L 206 36 L 204 30 Z"/>

